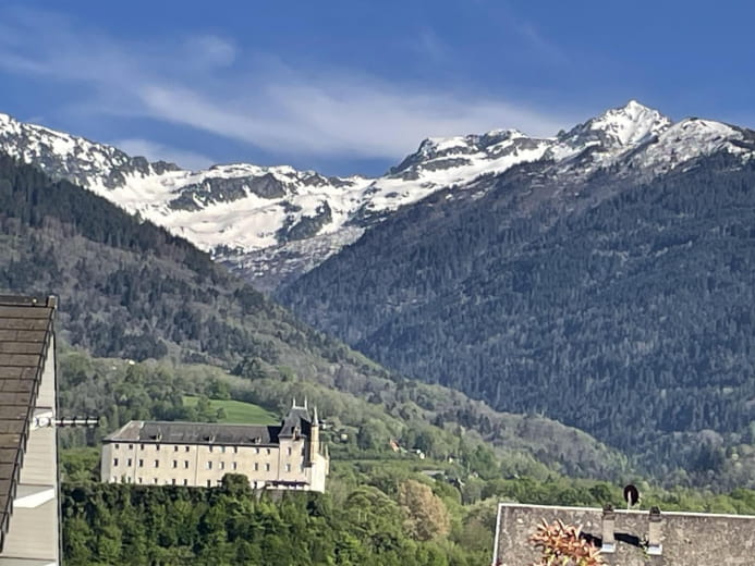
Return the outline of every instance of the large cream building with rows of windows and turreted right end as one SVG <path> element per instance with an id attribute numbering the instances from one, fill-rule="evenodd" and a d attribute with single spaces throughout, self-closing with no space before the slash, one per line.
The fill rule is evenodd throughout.
<path id="1" fill-rule="evenodd" d="M 319 428 L 295 402 L 280 426 L 132 420 L 102 441 L 101 480 L 211 488 L 242 473 L 254 489 L 324 492 Z"/>

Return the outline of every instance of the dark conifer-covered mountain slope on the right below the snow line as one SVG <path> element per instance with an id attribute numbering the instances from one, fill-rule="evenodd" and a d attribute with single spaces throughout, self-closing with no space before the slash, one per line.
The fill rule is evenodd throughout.
<path id="1" fill-rule="evenodd" d="M 522 167 L 387 219 L 280 297 L 409 376 L 752 485 L 753 225 L 753 162 L 569 185 Z"/>

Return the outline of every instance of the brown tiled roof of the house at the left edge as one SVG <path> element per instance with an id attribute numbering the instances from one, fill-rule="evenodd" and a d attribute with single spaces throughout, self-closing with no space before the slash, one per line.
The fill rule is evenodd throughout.
<path id="1" fill-rule="evenodd" d="M 0 295 L 0 551 L 13 512 L 56 300 Z"/>

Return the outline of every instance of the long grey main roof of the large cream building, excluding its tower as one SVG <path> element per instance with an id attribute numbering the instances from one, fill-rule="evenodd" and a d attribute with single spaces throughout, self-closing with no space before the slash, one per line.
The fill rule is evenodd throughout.
<path id="1" fill-rule="evenodd" d="M 132 420 L 105 442 L 161 442 L 166 444 L 277 444 L 279 426 L 219 424 Z"/>

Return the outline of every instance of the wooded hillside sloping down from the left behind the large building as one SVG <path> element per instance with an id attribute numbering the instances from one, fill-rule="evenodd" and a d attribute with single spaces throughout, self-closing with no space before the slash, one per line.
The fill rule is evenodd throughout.
<path id="1" fill-rule="evenodd" d="M 437 440 L 439 454 L 464 439 L 495 442 L 527 466 L 611 478 L 626 470 L 624 458 L 584 433 L 390 374 L 190 244 L 2 157 L 0 243 L 0 288 L 59 295 L 61 343 L 95 356 L 160 359 L 131 366 L 61 349 L 61 410 L 103 416 L 101 433 L 131 418 L 186 418 L 182 395 L 212 396 L 220 381 L 233 398 L 273 410 L 308 395 L 351 438 L 369 431 L 366 447 L 413 431 L 426 445 Z"/>

